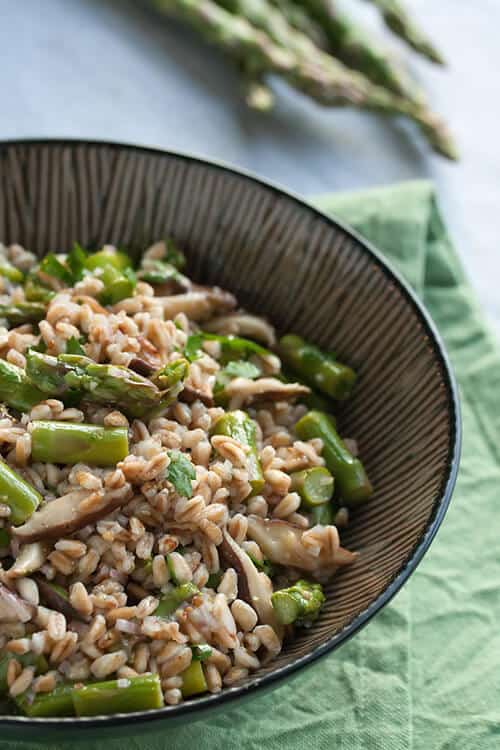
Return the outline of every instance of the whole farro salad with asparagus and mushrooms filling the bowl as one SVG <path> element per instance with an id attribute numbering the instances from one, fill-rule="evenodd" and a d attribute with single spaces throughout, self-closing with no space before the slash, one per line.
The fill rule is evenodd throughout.
<path id="1" fill-rule="evenodd" d="M 0 245 L 0 693 L 30 717 L 219 692 L 308 627 L 369 499 L 354 371 L 171 241 Z"/>

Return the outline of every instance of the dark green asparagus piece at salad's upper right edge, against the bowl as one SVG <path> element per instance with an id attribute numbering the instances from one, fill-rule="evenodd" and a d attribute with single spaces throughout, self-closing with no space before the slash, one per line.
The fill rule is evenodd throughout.
<path id="1" fill-rule="evenodd" d="M 354 370 L 337 362 L 331 355 L 307 343 L 300 336 L 283 336 L 280 340 L 280 354 L 283 361 L 313 388 L 318 388 L 338 401 L 344 401 L 351 395 L 356 382 Z"/>

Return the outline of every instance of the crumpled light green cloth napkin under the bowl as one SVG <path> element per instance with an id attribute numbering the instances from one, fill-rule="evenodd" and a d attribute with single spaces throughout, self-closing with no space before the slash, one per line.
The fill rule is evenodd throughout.
<path id="1" fill-rule="evenodd" d="M 450 510 L 402 591 L 329 657 L 210 718 L 126 741 L 82 741 L 81 750 L 500 747 L 500 350 L 463 276 L 431 184 L 316 203 L 400 269 L 444 337 L 464 428 Z M 79 743 L 72 746 L 80 750 Z"/>

